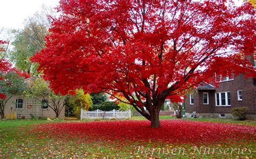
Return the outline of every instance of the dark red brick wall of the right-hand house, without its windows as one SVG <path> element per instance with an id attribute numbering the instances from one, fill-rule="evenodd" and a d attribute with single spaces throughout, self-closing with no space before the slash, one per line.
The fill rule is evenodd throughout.
<path id="1" fill-rule="evenodd" d="M 238 100 L 237 91 L 242 90 L 242 101 Z M 203 92 L 209 93 L 209 104 L 203 104 Z M 230 92 L 231 106 L 215 106 L 215 93 Z M 256 85 L 253 78 L 245 78 L 239 75 L 233 81 L 221 82 L 216 90 L 198 90 L 194 95 L 194 105 L 190 105 L 189 97 L 185 100 L 185 110 L 188 113 L 231 113 L 233 107 L 248 107 L 248 114 L 256 114 Z"/>

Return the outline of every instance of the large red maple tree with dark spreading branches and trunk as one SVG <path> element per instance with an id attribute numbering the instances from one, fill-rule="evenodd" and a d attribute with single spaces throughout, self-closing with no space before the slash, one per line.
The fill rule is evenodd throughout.
<path id="1" fill-rule="evenodd" d="M 122 95 L 151 127 L 166 98 L 180 100 L 214 74 L 255 75 L 245 59 L 255 49 L 249 3 L 62 0 L 58 11 L 32 57 L 51 88 Z"/>

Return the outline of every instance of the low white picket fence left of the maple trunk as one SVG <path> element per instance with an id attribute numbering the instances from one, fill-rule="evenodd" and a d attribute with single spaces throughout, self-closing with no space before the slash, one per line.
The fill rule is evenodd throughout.
<path id="1" fill-rule="evenodd" d="M 81 115 L 80 120 L 82 119 L 126 119 L 131 118 L 131 110 L 128 111 L 101 111 L 101 110 L 95 110 L 95 111 L 84 111 L 81 109 Z"/>

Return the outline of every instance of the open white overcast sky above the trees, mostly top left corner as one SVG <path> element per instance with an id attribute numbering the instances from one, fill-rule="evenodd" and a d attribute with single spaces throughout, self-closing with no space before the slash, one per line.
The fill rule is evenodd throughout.
<path id="1" fill-rule="evenodd" d="M 241 4 L 242 0 L 235 0 Z M 0 0 L 0 29 L 23 28 L 24 19 L 40 11 L 42 4 L 46 6 L 57 6 L 59 0 Z"/>

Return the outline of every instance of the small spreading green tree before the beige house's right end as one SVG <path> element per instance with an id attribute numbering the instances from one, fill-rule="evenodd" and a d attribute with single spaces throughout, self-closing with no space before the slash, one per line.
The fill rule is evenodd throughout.
<path id="1" fill-rule="evenodd" d="M 28 98 L 35 98 L 39 101 L 38 97 L 49 100 L 49 107 L 55 112 L 56 118 L 59 117 L 60 112 L 65 106 L 66 96 L 62 96 L 59 93 L 53 92 L 46 81 L 43 78 L 36 78 L 31 81 L 28 88 L 25 91 L 25 96 Z"/>

